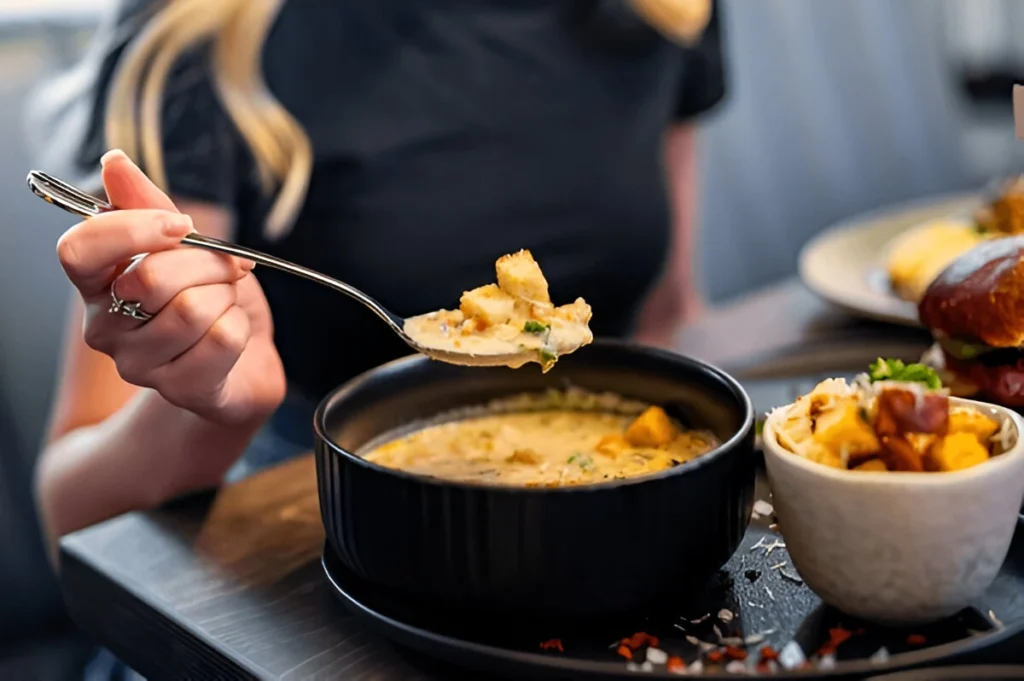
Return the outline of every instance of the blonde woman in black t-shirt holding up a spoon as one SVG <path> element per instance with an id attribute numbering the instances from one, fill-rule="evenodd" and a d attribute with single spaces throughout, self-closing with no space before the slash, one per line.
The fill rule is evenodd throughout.
<path id="1" fill-rule="evenodd" d="M 668 342 L 697 299 L 691 121 L 723 94 L 718 31 L 711 0 L 125 2 L 40 100 L 54 172 L 127 153 L 102 156 L 122 210 L 57 248 L 81 295 L 37 475 L 50 541 L 302 451 L 316 399 L 409 352 L 336 293 L 175 248 L 193 228 L 402 315 L 529 248 L 596 335 Z"/>

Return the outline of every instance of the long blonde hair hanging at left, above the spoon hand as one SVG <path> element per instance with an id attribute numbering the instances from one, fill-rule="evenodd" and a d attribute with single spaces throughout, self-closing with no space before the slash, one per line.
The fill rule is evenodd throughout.
<path id="1" fill-rule="evenodd" d="M 288 233 L 305 201 L 313 153 L 302 126 L 263 81 L 263 43 L 285 0 L 169 0 L 129 44 L 106 102 L 105 138 L 167 190 L 161 115 L 167 78 L 190 48 L 212 46 L 213 82 L 256 162 L 276 191 L 264 233 Z"/>

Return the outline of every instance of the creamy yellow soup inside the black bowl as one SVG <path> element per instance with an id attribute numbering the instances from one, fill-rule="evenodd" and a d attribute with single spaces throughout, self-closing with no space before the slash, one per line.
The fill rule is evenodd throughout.
<path id="1" fill-rule="evenodd" d="M 717 444 L 711 433 L 684 430 L 657 407 L 639 417 L 561 409 L 443 423 L 366 458 L 451 480 L 556 487 L 665 470 Z"/>

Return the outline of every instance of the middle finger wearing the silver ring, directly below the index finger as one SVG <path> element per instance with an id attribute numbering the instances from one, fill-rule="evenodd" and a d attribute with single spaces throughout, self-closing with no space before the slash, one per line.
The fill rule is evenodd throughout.
<path id="1" fill-rule="evenodd" d="M 156 314 L 187 289 L 233 284 L 254 266 L 255 263 L 241 258 L 179 248 L 151 253 L 134 261 L 113 287 L 121 300 L 137 301 L 143 310 Z"/>

